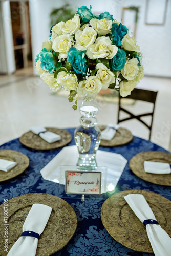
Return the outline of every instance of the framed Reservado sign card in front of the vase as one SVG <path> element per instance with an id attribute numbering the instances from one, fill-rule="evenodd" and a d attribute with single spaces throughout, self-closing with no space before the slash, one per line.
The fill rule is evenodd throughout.
<path id="1" fill-rule="evenodd" d="M 101 172 L 66 171 L 66 193 L 100 194 Z"/>

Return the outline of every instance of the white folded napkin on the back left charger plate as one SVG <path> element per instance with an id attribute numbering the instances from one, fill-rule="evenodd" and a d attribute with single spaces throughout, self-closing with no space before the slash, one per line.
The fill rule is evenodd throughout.
<path id="1" fill-rule="evenodd" d="M 46 130 L 45 127 L 42 126 L 35 126 L 32 127 L 30 129 L 31 132 L 39 135 L 42 139 L 44 139 L 45 141 L 47 141 L 48 143 L 54 143 L 58 140 L 61 140 L 61 136 L 53 133 L 53 132 L 49 132 Z"/>

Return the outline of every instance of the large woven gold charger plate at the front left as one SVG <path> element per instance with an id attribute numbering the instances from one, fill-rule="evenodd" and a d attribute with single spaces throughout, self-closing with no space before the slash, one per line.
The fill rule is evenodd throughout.
<path id="1" fill-rule="evenodd" d="M 8 201 L 8 251 L 22 234 L 22 227 L 33 204 L 52 207 L 49 221 L 38 238 L 36 256 L 49 256 L 68 244 L 77 227 L 73 208 L 63 199 L 42 193 L 27 194 Z M 4 251 L 4 204 L 0 206 L 0 255 Z"/>

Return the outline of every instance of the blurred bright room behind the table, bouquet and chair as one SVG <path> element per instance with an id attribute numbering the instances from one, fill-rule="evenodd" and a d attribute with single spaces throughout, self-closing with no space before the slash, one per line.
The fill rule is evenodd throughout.
<path id="1" fill-rule="evenodd" d="M 144 78 L 137 87 L 158 91 L 151 141 L 170 150 L 171 0 L 0 0 L 0 144 L 20 137 L 31 126 L 79 125 L 79 110 L 70 107 L 68 93 L 50 91 L 39 78 L 34 60 L 52 25 L 91 4 L 93 13 L 108 11 L 122 21 L 140 45 Z M 102 91 L 97 96 L 98 124 L 117 123 L 118 94 Z M 124 105 L 135 115 L 152 110 L 152 103 L 138 100 L 127 99 Z M 147 127 L 137 120 L 121 125 L 148 139 Z"/>

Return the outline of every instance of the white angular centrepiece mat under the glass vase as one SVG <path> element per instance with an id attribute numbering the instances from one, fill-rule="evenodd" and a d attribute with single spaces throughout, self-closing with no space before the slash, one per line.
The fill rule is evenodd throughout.
<path id="1" fill-rule="evenodd" d="M 77 146 L 66 146 L 44 167 L 40 170 L 45 180 L 50 180 L 65 185 L 65 178 L 61 179 L 60 166 L 76 166 L 78 160 Z M 98 166 L 108 167 L 106 180 L 106 191 L 109 187 L 115 188 L 121 174 L 125 168 L 127 160 L 120 154 L 97 150 L 96 160 Z M 103 181 L 102 181 L 103 182 Z M 112 184 L 112 186 L 110 186 Z"/>

